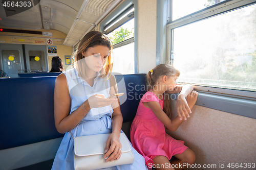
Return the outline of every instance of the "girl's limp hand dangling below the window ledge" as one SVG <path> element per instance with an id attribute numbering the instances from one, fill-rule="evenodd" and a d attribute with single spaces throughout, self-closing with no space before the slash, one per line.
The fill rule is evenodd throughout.
<path id="1" fill-rule="evenodd" d="M 177 114 L 180 120 L 182 120 L 182 117 L 186 120 L 186 117 L 189 117 L 188 113 L 191 113 L 191 110 L 188 107 L 185 96 L 183 94 L 179 94 L 177 98 Z"/>

